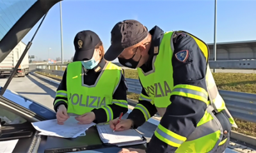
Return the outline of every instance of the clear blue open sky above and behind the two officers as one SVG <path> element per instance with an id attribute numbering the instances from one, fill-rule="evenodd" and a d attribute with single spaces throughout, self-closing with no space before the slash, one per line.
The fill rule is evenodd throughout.
<path id="1" fill-rule="evenodd" d="M 164 31 L 188 31 L 206 43 L 213 43 L 214 0 L 64 0 L 61 4 L 64 59 L 74 55 L 74 36 L 83 30 L 99 34 L 107 49 L 111 29 L 116 22 L 125 19 L 139 20 L 148 29 L 158 25 Z M 253 0 L 218 0 L 217 42 L 256 40 L 255 6 Z M 22 40 L 24 43 L 31 39 L 36 27 Z M 61 57 L 60 3 L 49 11 L 33 40 L 29 55 L 47 59 L 48 48 L 51 48 L 52 59 Z"/>

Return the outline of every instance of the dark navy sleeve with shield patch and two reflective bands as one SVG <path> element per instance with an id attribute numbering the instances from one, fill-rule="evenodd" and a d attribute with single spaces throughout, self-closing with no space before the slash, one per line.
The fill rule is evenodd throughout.
<path id="1" fill-rule="evenodd" d="M 166 108 L 147 153 L 175 152 L 193 133 L 207 108 L 206 59 L 189 34 L 177 33 L 174 39 L 172 104 Z M 183 56 L 180 51 L 185 51 Z"/>

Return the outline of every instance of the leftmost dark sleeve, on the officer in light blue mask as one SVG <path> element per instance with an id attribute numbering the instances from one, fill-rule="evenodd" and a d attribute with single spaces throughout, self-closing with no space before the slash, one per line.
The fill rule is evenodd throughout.
<path id="1" fill-rule="evenodd" d="M 57 108 L 60 105 L 65 105 L 68 108 L 68 96 L 67 96 L 67 69 L 65 69 L 60 85 L 56 91 L 56 96 L 53 102 L 54 110 L 57 112 Z"/>

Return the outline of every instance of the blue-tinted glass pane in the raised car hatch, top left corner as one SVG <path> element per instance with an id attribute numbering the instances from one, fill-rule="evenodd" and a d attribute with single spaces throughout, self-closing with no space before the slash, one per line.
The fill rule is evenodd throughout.
<path id="1" fill-rule="evenodd" d="M 0 0 L 0 41 L 37 0 Z"/>

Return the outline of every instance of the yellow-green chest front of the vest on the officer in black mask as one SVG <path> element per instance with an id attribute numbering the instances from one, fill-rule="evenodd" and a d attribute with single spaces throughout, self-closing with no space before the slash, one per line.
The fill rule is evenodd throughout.
<path id="1" fill-rule="evenodd" d="M 137 68 L 141 84 L 149 96 L 147 97 L 141 94 L 140 99 L 150 101 L 159 108 L 166 108 L 171 104 L 170 94 L 172 92 L 171 89 L 173 88 L 171 59 L 173 52 L 170 45 L 170 38 L 172 37 L 172 34 L 173 32 L 164 34 L 159 47 L 159 54 L 153 57 L 153 69 L 151 71 L 144 73 L 141 68 Z"/>

